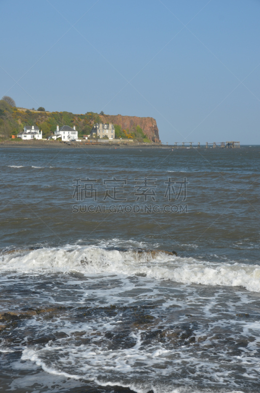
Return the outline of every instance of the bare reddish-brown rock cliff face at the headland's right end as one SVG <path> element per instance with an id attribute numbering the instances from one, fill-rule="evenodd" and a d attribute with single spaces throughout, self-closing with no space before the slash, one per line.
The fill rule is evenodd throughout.
<path id="1" fill-rule="evenodd" d="M 143 133 L 147 135 L 148 139 L 159 143 L 159 131 L 156 120 L 153 117 L 121 116 L 121 114 L 100 114 L 99 116 L 103 123 L 117 124 L 125 130 L 128 128 L 131 131 L 134 126 L 139 126 L 143 130 Z"/>

